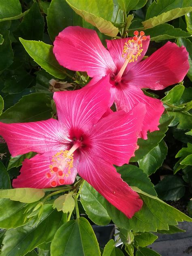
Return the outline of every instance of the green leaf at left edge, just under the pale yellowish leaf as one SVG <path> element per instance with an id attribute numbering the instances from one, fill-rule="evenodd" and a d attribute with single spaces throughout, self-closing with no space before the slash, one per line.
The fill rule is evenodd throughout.
<path id="1" fill-rule="evenodd" d="M 0 198 L 0 228 L 9 229 L 25 225 L 28 221 L 25 206 L 25 203 Z"/>

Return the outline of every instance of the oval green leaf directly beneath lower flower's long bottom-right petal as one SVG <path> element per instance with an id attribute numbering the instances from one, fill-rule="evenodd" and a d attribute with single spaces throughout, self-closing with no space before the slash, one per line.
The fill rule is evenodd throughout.
<path id="1" fill-rule="evenodd" d="M 85 181 L 81 188 L 81 203 L 90 220 L 97 225 L 104 226 L 111 221 L 105 202 L 105 198 Z"/>

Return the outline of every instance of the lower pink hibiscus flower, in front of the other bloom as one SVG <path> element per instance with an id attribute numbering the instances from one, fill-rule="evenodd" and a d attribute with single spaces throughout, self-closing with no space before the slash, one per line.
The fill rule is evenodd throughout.
<path id="1" fill-rule="evenodd" d="M 38 153 L 24 160 L 21 174 L 13 180 L 14 188 L 71 184 L 79 173 L 128 218 L 141 209 L 139 195 L 121 179 L 113 164 L 128 163 L 134 154 L 145 105 L 138 104 L 130 113 L 108 111 L 108 81 L 109 76 L 95 86 L 55 92 L 58 120 L 0 123 L 0 134 L 12 156 Z"/>

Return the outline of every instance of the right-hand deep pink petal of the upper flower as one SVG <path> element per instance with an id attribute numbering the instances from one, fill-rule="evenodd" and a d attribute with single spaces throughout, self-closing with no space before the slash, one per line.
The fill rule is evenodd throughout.
<path id="1" fill-rule="evenodd" d="M 188 70 L 186 48 L 167 42 L 149 58 L 132 67 L 124 79 L 130 85 L 162 90 L 182 81 Z"/>

